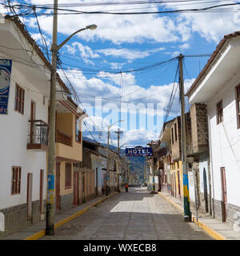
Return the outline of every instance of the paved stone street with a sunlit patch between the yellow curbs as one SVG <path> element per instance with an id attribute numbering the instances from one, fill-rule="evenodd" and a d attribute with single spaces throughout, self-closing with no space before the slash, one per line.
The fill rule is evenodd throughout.
<path id="1" fill-rule="evenodd" d="M 144 188 L 129 188 L 58 228 L 54 237 L 71 240 L 210 240 L 194 223 L 183 221 L 166 199 Z"/>

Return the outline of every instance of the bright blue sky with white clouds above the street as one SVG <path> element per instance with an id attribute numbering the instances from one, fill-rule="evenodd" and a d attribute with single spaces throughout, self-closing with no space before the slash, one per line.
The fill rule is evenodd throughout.
<path id="1" fill-rule="evenodd" d="M 157 140 L 162 123 L 180 114 L 176 57 L 179 54 L 186 56 L 183 73 L 187 90 L 218 42 L 225 34 L 238 30 L 240 24 L 238 5 L 198 12 L 86 14 L 93 11 L 124 13 L 190 10 L 237 1 L 142 2 L 58 0 L 58 8 L 65 9 L 58 10 L 58 44 L 76 30 L 90 24 L 98 26 L 96 30 L 84 30 L 74 35 L 59 50 L 62 68 L 58 69 L 58 73 L 67 86 L 74 87 L 79 106 L 89 116 L 84 121 L 83 136 L 106 143 L 106 132 L 111 126 L 110 144 L 117 146 L 117 134 L 114 131 L 119 128 L 123 132 L 120 140 L 123 149 L 126 146 L 146 146 L 147 142 Z M 53 3 L 54 0 L 14 1 L 17 13 L 29 10 L 17 8 L 18 4 L 36 5 L 38 22 L 33 11 L 21 19 L 46 52 L 39 33 L 39 23 L 49 58 L 53 15 L 52 10 L 39 7 L 50 7 Z M 0 8 L 2 13 L 7 12 L 3 5 Z M 74 14 L 70 10 L 85 14 Z M 170 111 L 167 111 L 172 92 L 174 99 Z"/>

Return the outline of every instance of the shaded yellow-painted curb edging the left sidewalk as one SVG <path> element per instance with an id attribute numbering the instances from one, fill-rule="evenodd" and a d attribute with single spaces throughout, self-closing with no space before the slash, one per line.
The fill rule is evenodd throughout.
<path id="1" fill-rule="evenodd" d="M 64 224 L 66 224 L 67 222 L 70 222 L 74 218 L 77 218 L 78 216 L 84 214 L 87 210 L 90 209 L 90 207 L 97 206 L 100 202 L 105 201 L 107 198 L 110 198 L 110 197 L 114 196 L 115 194 L 118 194 L 118 192 L 114 192 L 114 193 L 106 196 L 105 198 L 102 198 L 102 199 L 98 200 L 97 202 L 94 202 L 90 206 L 86 206 L 86 208 L 79 210 L 77 213 L 72 214 L 69 217 L 62 219 L 60 222 L 54 224 L 54 230 L 56 230 L 59 226 L 62 226 Z M 38 240 L 39 238 L 42 238 L 43 236 L 45 236 L 45 230 L 40 230 L 37 233 L 30 235 L 30 237 L 24 238 L 23 240 Z"/>

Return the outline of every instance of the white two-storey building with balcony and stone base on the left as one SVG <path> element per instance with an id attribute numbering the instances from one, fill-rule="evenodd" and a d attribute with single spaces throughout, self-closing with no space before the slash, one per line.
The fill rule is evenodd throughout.
<path id="1" fill-rule="evenodd" d="M 50 63 L 17 18 L 0 17 L 0 38 L 0 59 L 12 60 L 0 114 L 1 236 L 44 218 Z"/>

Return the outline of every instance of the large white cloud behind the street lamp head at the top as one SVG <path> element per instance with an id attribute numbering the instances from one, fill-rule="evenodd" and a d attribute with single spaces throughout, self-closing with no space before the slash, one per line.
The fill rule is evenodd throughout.
<path id="1" fill-rule="evenodd" d="M 46 1 L 32 1 L 33 3 L 46 4 Z M 59 0 L 58 5 L 64 3 Z M 74 3 L 75 1 L 68 1 Z M 84 1 L 91 3 L 90 0 Z M 103 1 L 104 2 L 104 1 Z M 154 3 L 150 3 L 145 8 L 151 7 L 151 10 L 158 10 Z M 95 7 L 74 7 L 74 10 L 109 10 L 110 6 Z M 122 9 L 129 9 L 129 6 L 121 6 Z M 61 14 L 61 11 L 59 11 Z M 52 34 L 52 16 L 41 16 L 38 18 L 42 30 L 47 34 Z M 168 16 L 158 16 L 157 14 L 148 15 L 110 15 L 110 14 L 84 14 L 84 15 L 59 15 L 58 16 L 58 32 L 69 35 L 81 27 L 96 24 L 97 30 L 83 31 L 76 36 L 85 40 L 100 39 L 102 41 L 109 40 L 115 44 L 122 42 L 176 42 L 184 38 L 182 34 L 186 33 L 183 28 L 178 28 L 178 23 Z M 80 24 L 80 27 L 79 27 Z M 34 25 L 34 18 L 29 19 L 29 25 Z"/>

